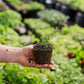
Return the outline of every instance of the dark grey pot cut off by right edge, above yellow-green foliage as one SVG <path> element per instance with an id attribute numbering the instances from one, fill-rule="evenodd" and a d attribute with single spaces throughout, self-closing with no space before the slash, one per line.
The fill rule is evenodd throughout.
<path id="1" fill-rule="evenodd" d="M 76 16 L 76 24 L 81 27 L 84 27 L 84 13 L 78 12 Z"/>

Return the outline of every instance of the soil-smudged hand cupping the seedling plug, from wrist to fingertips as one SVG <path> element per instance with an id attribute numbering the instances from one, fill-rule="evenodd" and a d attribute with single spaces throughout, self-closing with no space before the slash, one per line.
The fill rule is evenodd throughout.
<path id="1" fill-rule="evenodd" d="M 52 68 L 54 62 L 50 64 L 36 64 L 33 46 L 26 46 L 21 49 L 21 55 L 19 56 L 18 63 L 25 66 L 25 67 L 36 67 L 36 68 Z"/>

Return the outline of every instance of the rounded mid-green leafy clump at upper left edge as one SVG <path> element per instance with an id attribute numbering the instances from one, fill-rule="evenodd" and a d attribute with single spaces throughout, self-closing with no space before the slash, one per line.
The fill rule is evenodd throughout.
<path id="1" fill-rule="evenodd" d="M 0 24 L 9 26 L 10 28 L 18 29 L 21 23 L 21 15 L 12 10 L 0 12 Z"/>

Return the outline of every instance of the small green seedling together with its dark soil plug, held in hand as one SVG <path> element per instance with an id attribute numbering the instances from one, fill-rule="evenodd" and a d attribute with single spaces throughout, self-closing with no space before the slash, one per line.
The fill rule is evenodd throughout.
<path id="1" fill-rule="evenodd" d="M 41 38 L 41 42 L 34 44 L 34 56 L 37 64 L 50 64 L 53 45 L 50 39 L 56 35 L 57 29 Z"/>

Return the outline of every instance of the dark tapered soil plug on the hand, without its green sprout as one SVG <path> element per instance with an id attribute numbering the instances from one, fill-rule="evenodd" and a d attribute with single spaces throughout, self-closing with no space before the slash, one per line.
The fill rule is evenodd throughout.
<path id="1" fill-rule="evenodd" d="M 40 43 L 34 44 L 34 56 L 37 64 L 50 64 L 53 46 L 48 44 L 42 46 Z"/>

